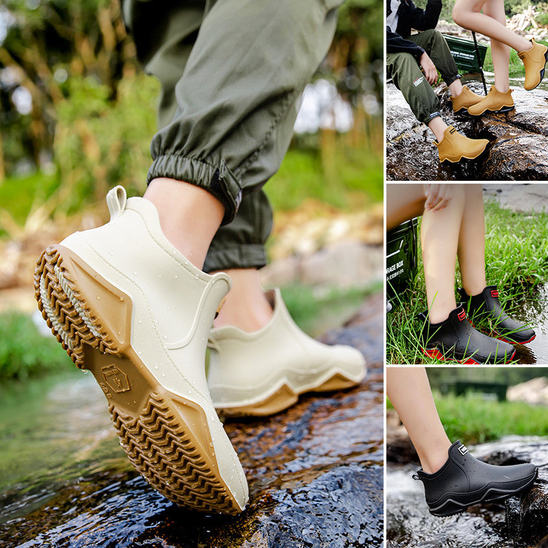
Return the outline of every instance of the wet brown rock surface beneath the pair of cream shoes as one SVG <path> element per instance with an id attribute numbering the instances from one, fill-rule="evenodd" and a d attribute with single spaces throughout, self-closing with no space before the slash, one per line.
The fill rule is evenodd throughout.
<path id="1" fill-rule="evenodd" d="M 360 386 L 226 423 L 249 482 L 239 516 L 196 514 L 164 499 L 121 458 L 112 429 L 102 462 L 79 462 L 81 473 L 67 479 L 27 478 L 0 494 L 0 546 L 380 548 L 383 305 L 382 295 L 370 297 L 349 325 L 325 336 L 364 352 L 369 372 Z"/>

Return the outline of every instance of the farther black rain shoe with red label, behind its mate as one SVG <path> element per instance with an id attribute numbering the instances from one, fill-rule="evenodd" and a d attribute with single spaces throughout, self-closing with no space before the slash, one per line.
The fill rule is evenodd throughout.
<path id="1" fill-rule="evenodd" d="M 535 337 L 535 332 L 530 327 L 519 323 L 506 312 L 499 302 L 497 286 L 487 286 L 479 295 L 466 294 L 463 288 L 459 289 L 460 297 L 464 301 L 464 308 L 468 306 L 468 315 L 472 322 L 489 321 L 497 338 L 506 343 L 518 343 L 525 345 Z"/>

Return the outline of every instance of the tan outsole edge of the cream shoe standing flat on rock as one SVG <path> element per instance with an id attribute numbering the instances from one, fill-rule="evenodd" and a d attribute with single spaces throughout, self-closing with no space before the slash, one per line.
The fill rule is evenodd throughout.
<path id="1" fill-rule="evenodd" d="M 283 384 L 272 395 L 258 401 L 251 403 L 247 406 L 238 407 L 219 407 L 217 410 L 222 412 L 226 416 L 266 416 L 279 413 L 299 400 L 299 396 L 308 392 L 331 392 L 334 390 L 345 390 L 345 388 L 352 388 L 357 386 L 359 382 L 353 381 L 348 377 L 345 377 L 342 373 L 335 373 L 327 381 L 314 388 L 307 388 L 306 390 L 293 390 L 288 384 Z"/>

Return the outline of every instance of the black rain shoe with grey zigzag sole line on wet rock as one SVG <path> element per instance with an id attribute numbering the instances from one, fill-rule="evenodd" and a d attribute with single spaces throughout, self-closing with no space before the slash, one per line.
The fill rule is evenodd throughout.
<path id="1" fill-rule="evenodd" d="M 430 514 L 451 516 L 479 502 L 507 499 L 527 489 L 538 473 L 534 464 L 493 466 L 471 456 L 457 440 L 449 447 L 449 458 L 433 474 L 413 474 L 424 485 Z"/>

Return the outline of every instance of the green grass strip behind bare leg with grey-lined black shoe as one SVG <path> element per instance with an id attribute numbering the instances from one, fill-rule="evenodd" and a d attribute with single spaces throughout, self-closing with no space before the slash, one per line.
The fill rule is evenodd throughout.
<path id="1" fill-rule="evenodd" d="M 450 440 L 485 443 L 504 436 L 548 436 L 544 406 L 521 401 L 493 401 L 481 395 L 441 396 L 434 391 L 436 408 Z M 388 408 L 393 408 L 390 401 Z"/>

